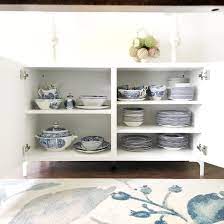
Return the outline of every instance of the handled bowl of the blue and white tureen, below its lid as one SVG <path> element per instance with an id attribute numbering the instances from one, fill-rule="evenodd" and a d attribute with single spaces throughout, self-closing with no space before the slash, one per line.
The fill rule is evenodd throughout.
<path id="1" fill-rule="evenodd" d="M 35 136 L 39 145 L 47 151 L 60 152 L 68 148 L 77 136 L 69 135 L 61 138 L 45 138 L 39 135 Z"/>

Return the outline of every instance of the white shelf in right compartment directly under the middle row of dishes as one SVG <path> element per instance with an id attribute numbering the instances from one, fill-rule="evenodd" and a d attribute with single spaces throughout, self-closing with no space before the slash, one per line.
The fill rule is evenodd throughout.
<path id="1" fill-rule="evenodd" d="M 118 126 L 117 133 L 192 133 L 200 134 L 195 127 L 162 127 L 156 125 L 142 125 L 140 127 Z"/>

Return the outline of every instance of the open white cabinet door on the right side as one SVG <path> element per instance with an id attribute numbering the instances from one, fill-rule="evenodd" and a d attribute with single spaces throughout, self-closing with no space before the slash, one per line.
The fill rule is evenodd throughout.
<path id="1" fill-rule="evenodd" d="M 206 70 L 200 85 L 202 135 L 197 148 L 202 161 L 224 167 L 224 62 L 212 63 Z"/>

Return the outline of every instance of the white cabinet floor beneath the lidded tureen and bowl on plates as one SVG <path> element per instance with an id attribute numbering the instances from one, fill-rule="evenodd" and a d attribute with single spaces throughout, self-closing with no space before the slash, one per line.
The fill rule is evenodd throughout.
<path id="1" fill-rule="evenodd" d="M 48 152 L 43 149 L 31 149 L 26 153 L 26 160 L 37 161 L 110 161 L 113 156 L 110 150 L 95 154 L 85 154 L 72 149 L 62 152 Z M 113 159 L 112 159 L 113 160 Z"/>

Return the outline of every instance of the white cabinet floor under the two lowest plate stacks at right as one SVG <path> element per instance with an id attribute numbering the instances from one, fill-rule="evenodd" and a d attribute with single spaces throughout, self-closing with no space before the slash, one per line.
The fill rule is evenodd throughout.
<path id="1" fill-rule="evenodd" d="M 193 150 L 184 149 L 168 151 L 165 149 L 150 149 L 146 152 L 129 152 L 118 149 L 118 161 L 193 161 Z"/>

